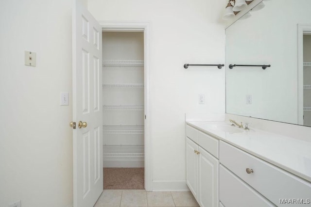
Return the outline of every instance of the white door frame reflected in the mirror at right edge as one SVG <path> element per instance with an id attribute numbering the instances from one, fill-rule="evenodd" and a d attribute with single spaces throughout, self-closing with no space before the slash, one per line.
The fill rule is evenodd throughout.
<path id="1" fill-rule="evenodd" d="M 298 124 L 303 125 L 303 35 L 311 33 L 311 24 L 297 24 Z"/>

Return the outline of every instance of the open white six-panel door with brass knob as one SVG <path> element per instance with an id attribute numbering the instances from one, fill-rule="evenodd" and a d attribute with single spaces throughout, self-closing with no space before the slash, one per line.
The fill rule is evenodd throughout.
<path id="1" fill-rule="evenodd" d="M 73 206 L 93 207 L 103 191 L 102 28 L 79 0 L 72 24 Z"/>

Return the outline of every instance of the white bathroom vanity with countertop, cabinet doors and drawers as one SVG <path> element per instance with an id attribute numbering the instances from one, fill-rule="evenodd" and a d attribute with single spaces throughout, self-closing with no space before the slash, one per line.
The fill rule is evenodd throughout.
<path id="1" fill-rule="evenodd" d="M 199 205 L 311 206 L 311 142 L 256 123 L 232 126 L 229 116 L 195 121 L 186 114 L 186 179 Z"/>

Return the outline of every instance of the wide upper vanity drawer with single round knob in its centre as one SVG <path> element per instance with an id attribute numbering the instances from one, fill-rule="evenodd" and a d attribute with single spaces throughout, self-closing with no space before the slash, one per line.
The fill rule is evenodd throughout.
<path id="1" fill-rule="evenodd" d="M 226 168 L 238 175 L 275 205 L 282 206 L 280 199 L 311 199 L 310 182 L 228 143 L 221 141 L 219 151 L 219 160 Z M 253 172 L 247 174 L 246 168 L 252 169 Z M 286 205 L 288 204 L 283 204 L 283 206 Z"/>

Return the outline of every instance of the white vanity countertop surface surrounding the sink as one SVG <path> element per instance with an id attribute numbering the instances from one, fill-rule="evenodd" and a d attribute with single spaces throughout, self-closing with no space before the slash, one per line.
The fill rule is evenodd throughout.
<path id="1" fill-rule="evenodd" d="M 208 127 L 213 123 L 229 125 L 225 121 L 186 121 L 186 123 L 311 182 L 311 142 L 252 127 L 250 130 L 241 129 L 241 133 L 222 132 Z"/>

